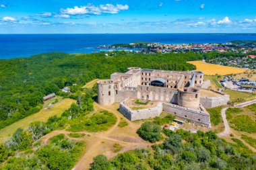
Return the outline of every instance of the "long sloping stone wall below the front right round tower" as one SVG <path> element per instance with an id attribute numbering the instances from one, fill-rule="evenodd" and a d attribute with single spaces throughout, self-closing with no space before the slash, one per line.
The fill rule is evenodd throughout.
<path id="1" fill-rule="evenodd" d="M 207 113 L 202 105 L 200 105 L 200 110 L 192 110 L 171 103 L 162 103 L 162 108 L 164 112 L 168 112 L 179 118 L 189 120 L 195 124 L 201 124 L 207 127 L 211 126 L 210 114 Z"/>

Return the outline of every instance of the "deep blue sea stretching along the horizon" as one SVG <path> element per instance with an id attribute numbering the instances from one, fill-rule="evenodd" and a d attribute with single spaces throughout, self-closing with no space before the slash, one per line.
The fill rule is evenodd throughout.
<path id="1" fill-rule="evenodd" d="M 0 59 L 44 52 L 92 53 L 97 46 L 131 42 L 161 44 L 256 40 L 256 34 L 0 34 Z"/>

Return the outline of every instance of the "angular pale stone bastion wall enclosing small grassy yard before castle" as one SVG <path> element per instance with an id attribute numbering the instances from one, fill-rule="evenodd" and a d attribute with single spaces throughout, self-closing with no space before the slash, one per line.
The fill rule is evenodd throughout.
<path id="1" fill-rule="evenodd" d="M 160 116 L 160 114 L 162 113 L 162 103 L 158 103 L 155 108 L 131 110 L 131 108 L 126 105 L 126 101 L 127 99 L 120 103 L 119 112 L 121 112 L 123 116 L 131 121 L 155 118 L 156 116 Z"/>

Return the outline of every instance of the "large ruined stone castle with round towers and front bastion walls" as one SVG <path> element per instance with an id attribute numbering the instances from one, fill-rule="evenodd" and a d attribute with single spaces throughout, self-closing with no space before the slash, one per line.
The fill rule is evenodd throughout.
<path id="1" fill-rule="evenodd" d="M 127 73 L 113 73 L 110 80 L 98 82 L 98 103 L 119 102 L 119 111 L 129 120 L 154 118 L 164 110 L 170 114 L 210 126 L 210 115 L 200 105 L 201 71 L 159 71 L 129 68 Z M 156 108 L 131 110 L 127 98 L 158 101 Z"/>

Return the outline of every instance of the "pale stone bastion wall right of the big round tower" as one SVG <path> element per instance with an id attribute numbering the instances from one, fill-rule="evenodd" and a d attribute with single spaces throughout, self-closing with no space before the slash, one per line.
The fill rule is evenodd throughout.
<path id="1" fill-rule="evenodd" d="M 220 105 L 227 105 L 229 101 L 229 95 L 226 95 L 220 91 L 216 90 L 210 90 L 214 91 L 215 93 L 220 94 L 221 96 L 216 97 L 201 97 L 200 103 L 203 105 L 204 108 L 216 108 Z"/>

